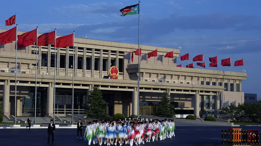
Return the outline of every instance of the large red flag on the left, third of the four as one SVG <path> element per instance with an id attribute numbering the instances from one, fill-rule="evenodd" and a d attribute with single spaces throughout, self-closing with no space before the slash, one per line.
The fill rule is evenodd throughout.
<path id="1" fill-rule="evenodd" d="M 48 44 L 54 44 L 55 31 L 44 33 L 38 37 L 37 46 L 45 46 Z"/>

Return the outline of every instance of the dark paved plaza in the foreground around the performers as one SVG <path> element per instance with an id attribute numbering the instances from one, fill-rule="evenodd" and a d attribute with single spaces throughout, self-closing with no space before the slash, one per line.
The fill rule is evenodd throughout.
<path id="1" fill-rule="evenodd" d="M 85 127 L 84 127 L 85 128 Z M 176 146 L 204 146 L 204 145 L 220 145 L 221 144 L 221 130 L 230 127 L 222 126 L 177 126 L 175 130 L 175 137 L 164 141 L 155 141 L 145 143 L 144 145 L 159 146 L 159 145 L 176 145 Z M 238 127 L 237 127 L 238 128 Z M 242 126 L 244 130 L 255 129 L 261 130 L 259 126 Z M 47 144 L 47 129 L 1 129 L 0 130 L 1 145 L 14 146 L 84 146 L 86 141 L 76 139 L 77 129 L 56 129 L 54 144 Z M 119 144 L 118 144 L 119 145 Z"/>

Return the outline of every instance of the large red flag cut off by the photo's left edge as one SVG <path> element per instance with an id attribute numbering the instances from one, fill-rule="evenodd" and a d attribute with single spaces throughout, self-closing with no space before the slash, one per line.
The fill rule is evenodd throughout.
<path id="1" fill-rule="evenodd" d="M 16 40 L 16 27 L 0 33 L 0 43 L 2 45 L 11 43 L 13 40 Z"/>

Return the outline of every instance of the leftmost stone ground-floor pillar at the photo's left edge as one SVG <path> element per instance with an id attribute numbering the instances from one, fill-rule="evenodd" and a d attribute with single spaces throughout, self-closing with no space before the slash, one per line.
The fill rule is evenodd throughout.
<path id="1" fill-rule="evenodd" d="M 2 105 L 2 113 L 7 117 L 10 116 L 9 111 L 9 99 L 10 99 L 10 80 L 5 80 L 5 85 L 3 85 L 3 105 Z"/>

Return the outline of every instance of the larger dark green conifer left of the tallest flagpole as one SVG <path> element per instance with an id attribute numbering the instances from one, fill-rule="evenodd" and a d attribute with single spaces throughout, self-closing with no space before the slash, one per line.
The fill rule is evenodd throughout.
<path id="1" fill-rule="evenodd" d="M 93 87 L 90 90 L 85 106 L 85 116 L 92 119 L 104 119 L 107 117 L 107 103 L 102 99 L 102 91 L 98 87 Z"/>

